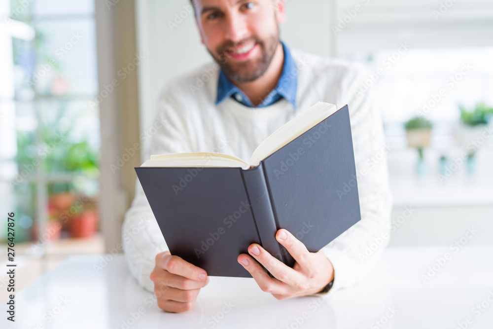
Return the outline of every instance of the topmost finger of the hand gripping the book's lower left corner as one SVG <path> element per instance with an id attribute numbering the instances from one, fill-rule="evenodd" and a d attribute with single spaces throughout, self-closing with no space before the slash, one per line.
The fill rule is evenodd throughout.
<path id="1" fill-rule="evenodd" d="M 190 280 L 206 281 L 207 272 L 179 256 L 164 252 L 156 255 L 156 267 L 160 267 L 170 273 L 183 276 Z"/>

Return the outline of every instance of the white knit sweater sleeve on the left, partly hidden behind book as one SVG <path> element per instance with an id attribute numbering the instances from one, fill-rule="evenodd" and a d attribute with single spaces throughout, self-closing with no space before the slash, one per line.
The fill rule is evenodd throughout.
<path id="1" fill-rule="evenodd" d="M 175 95 L 173 88 L 163 89 L 153 125 L 141 135 L 141 141 L 151 136 L 145 159 L 150 154 L 192 151 L 183 116 L 178 115 L 185 109 L 176 101 Z M 155 266 L 155 256 L 169 249 L 139 180 L 136 182 L 135 198 L 125 214 L 122 245 L 130 272 L 143 288 L 153 292 L 154 283 L 149 275 Z"/>

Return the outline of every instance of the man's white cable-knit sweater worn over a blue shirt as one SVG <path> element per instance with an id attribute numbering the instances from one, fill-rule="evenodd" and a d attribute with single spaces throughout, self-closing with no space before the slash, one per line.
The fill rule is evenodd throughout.
<path id="1" fill-rule="evenodd" d="M 348 104 L 361 221 L 323 249 L 334 266 L 331 294 L 361 279 L 388 243 L 391 195 L 387 148 L 379 110 L 372 106 L 368 93 L 354 93 L 367 77 L 360 66 L 294 49 L 291 53 L 298 66 L 297 109 L 284 99 L 259 109 L 232 98 L 215 106 L 219 72 L 215 63 L 167 83 L 159 98 L 158 129 L 146 159 L 150 154 L 216 151 L 248 162 L 264 139 L 315 103 L 335 104 L 338 109 Z M 341 186 L 341 191 L 353 183 Z M 122 243 L 132 275 L 153 291 L 149 274 L 154 258 L 168 247 L 138 180 L 135 199 L 125 215 Z"/>

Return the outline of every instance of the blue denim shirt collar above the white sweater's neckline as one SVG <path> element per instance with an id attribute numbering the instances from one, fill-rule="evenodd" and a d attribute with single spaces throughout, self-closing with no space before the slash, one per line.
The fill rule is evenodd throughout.
<path id="1" fill-rule="evenodd" d="M 298 68 L 289 51 L 289 48 L 281 41 L 282 49 L 284 51 L 284 65 L 282 67 L 282 75 L 279 78 L 278 84 L 274 90 L 259 104 L 259 108 L 269 106 L 280 98 L 286 99 L 291 105 L 296 108 L 296 91 L 298 85 Z M 219 72 L 219 79 L 217 81 L 217 96 L 215 104 L 223 102 L 227 98 L 239 94 L 241 97 L 237 98 L 240 103 L 253 107 L 251 101 L 243 93 L 240 88 L 235 86 L 231 82 L 226 74 L 222 70 Z M 241 100 L 241 101 L 240 101 Z"/>

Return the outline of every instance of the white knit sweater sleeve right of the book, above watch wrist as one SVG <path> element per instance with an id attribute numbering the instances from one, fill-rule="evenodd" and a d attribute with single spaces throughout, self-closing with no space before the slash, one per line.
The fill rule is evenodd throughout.
<path id="1" fill-rule="evenodd" d="M 347 75 L 341 87 L 344 96 L 338 104 L 348 104 L 350 109 L 361 220 L 323 248 L 334 267 L 334 284 L 327 295 L 352 286 L 366 275 L 382 255 L 390 235 L 390 146 L 386 144 L 381 114 L 372 102 L 371 90 L 356 92 L 367 77 L 362 72 L 354 70 Z M 353 182 L 347 183 L 346 191 L 354 186 Z M 344 186 L 340 189 L 344 191 Z"/>

